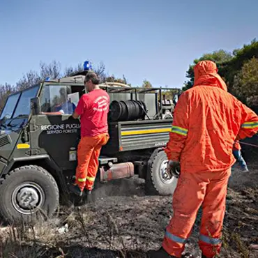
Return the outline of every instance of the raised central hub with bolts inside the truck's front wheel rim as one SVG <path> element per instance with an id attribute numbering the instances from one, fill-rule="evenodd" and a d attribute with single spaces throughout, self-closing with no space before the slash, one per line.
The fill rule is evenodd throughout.
<path id="1" fill-rule="evenodd" d="M 17 194 L 17 202 L 22 208 L 34 208 L 38 203 L 38 200 L 38 192 L 33 188 L 22 188 Z"/>

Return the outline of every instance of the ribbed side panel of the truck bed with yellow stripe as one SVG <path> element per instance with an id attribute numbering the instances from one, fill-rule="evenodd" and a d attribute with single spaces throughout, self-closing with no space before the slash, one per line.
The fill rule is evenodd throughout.
<path id="1" fill-rule="evenodd" d="M 121 124 L 120 151 L 148 149 L 165 146 L 169 139 L 172 123 Z"/>

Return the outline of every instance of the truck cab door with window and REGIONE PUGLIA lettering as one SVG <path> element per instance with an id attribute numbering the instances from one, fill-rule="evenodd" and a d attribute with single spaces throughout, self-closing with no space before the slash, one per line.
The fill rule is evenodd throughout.
<path id="1" fill-rule="evenodd" d="M 71 86 L 45 84 L 40 93 L 41 114 L 33 116 L 30 125 L 31 152 L 46 153 L 61 169 L 75 169 L 80 123 L 71 119 L 79 93 Z M 33 153 L 34 152 L 34 153 Z"/>

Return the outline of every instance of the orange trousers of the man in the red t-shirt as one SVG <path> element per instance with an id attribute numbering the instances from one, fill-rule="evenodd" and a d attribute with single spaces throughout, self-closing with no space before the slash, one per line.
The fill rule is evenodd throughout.
<path id="1" fill-rule="evenodd" d="M 80 190 L 92 190 L 98 172 L 98 158 L 102 146 L 107 144 L 109 135 L 107 133 L 94 137 L 82 137 L 77 150 L 76 179 Z"/>

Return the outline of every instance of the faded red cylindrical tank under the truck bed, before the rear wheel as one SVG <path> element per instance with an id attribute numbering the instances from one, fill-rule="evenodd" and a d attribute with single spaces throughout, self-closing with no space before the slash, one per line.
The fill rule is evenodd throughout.
<path id="1" fill-rule="evenodd" d="M 132 162 L 113 164 L 112 167 L 100 167 L 100 182 L 114 179 L 126 179 L 135 174 L 135 166 Z"/>

